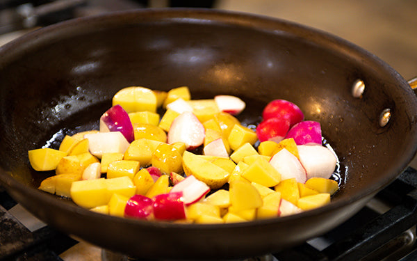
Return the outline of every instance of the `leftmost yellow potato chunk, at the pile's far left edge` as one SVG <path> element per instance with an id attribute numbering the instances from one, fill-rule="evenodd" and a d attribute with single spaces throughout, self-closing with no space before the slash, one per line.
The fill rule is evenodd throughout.
<path id="1" fill-rule="evenodd" d="M 52 171 L 58 166 L 60 160 L 67 156 L 67 152 L 51 148 L 29 150 L 28 157 L 35 171 Z"/>

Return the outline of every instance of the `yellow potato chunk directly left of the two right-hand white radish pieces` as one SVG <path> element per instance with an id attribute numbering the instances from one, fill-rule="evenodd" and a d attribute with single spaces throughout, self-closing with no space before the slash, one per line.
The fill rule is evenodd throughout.
<path id="1" fill-rule="evenodd" d="M 281 181 L 281 174 L 266 160 L 259 158 L 243 173 L 242 177 L 265 187 L 274 187 Z"/>

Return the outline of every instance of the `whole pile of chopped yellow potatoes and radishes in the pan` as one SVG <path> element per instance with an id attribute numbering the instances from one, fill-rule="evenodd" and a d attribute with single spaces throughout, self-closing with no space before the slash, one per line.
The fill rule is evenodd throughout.
<path id="1" fill-rule="evenodd" d="M 28 157 L 35 171 L 56 173 L 42 191 L 131 219 L 231 223 L 328 204 L 338 190 L 330 179 L 337 159 L 322 145 L 320 123 L 273 100 L 255 131 L 235 117 L 245 105 L 231 95 L 191 100 L 186 86 L 127 87 L 99 130 L 67 135 L 58 150 Z"/>

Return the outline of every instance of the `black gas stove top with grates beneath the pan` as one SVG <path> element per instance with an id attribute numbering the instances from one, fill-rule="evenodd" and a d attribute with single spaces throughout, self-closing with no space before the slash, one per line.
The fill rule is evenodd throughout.
<path id="1" fill-rule="evenodd" d="M 243 260 L 417 260 L 416 223 L 417 170 L 409 167 L 366 207 L 325 235 L 278 253 Z M 0 260 L 141 259 L 63 235 L 0 191 Z"/>

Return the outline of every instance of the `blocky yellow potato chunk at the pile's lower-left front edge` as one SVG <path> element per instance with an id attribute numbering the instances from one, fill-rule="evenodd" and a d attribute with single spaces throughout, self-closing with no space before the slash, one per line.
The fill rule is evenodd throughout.
<path id="1" fill-rule="evenodd" d="M 107 205 L 110 200 L 104 178 L 72 182 L 70 193 L 76 205 L 87 209 Z"/>

